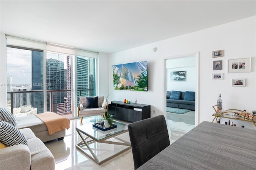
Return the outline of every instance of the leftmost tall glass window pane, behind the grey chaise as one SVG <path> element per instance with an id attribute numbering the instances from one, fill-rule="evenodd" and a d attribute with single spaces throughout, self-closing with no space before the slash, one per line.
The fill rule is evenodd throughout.
<path id="1" fill-rule="evenodd" d="M 16 117 L 44 111 L 43 51 L 7 46 L 7 109 Z"/>

